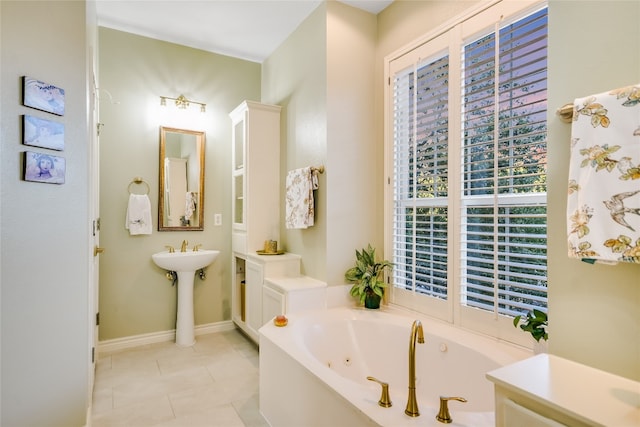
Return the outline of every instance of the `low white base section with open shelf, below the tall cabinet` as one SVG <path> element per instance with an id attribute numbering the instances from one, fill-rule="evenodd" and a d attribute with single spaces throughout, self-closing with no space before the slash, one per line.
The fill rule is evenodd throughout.
<path id="1" fill-rule="evenodd" d="M 236 276 L 240 274 L 232 289 L 233 321 L 249 338 L 258 343 L 258 329 L 264 324 L 262 307 L 265 277 L 299 276 L 300 256 L 289 253 L 246 256 L 236 254 L 233 258 Z M 238 266 L 242 266 L 240 273 Z"/>

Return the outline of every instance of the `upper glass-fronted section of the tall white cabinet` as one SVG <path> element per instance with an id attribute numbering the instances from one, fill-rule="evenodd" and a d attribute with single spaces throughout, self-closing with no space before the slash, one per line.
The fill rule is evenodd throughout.
<path id="1" fill-rule="evenodd" d="M 264 248 L 280 237 L 280 107 L 244 101 L 232 123 L 232 250 Z"/>

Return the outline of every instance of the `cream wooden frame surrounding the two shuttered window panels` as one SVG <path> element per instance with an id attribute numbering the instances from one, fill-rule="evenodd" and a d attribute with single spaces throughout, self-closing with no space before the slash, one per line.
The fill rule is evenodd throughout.
<path id="1" fill-rule="evenodd" d="M 385 205 L 384 205 L 384 235 L 385 258 L 394 258 L 394 77 L 400 70 L 405 70 L 417 63 L 416 58 L 427 61 L 428 58 L 437 59 L 439 54 L 446 53 L 449 57 L 449 139 L 451 146 L 449 153 L 460 153 L 462 157 L 462 50 L 469 40 L 479 38 L 491 32 L 492 27 L 499 30 L 506 21 L 515 22 L 536 10 L 547 7 L 546 1 L 502 1 L 496 0 L 484 3 L 469 9 L 463 15 L 455 17 L 433 31 L 425 34 L 406 47 L 385 57 L 385 91 L 384 91 L 384 153 L 385 153 Z M 500 23 L 500 24 L 497 24 Z M 451 49 L 451 50 L 450 50 Z M 454 49 L 457 49 L 454 51 Z M 455 76 L 455 80 L 452 76 Z M 460 116 L 457 116 L 460 114 Z M 449 154 L 451 155 L 451 154 Z M 447 246 L 447 299 L 440 298 L 415 298 L 414 291 L 397 288 L 394 284 L 388 287 L 389 302 L 400 305 L 410 310 L 425 313 L 429 316 L 453 323 L 457 327 L 471 329 L 501 340 L 516 344 L 531 346 L 532 340 L 529 334 L 523 333 L 519 328 L 514 328 L 510 316 L 487 313 L 485 310 L 465 306 L 461 304 L 463 286 L 462 276 L 462 248 L 461 237 L 463 234 L 461 209 L 466 204 L 479 204 L 486 197 L 493 196 L 464 196 L 461 172 L 461 161 L 449 162 L 449 194 L 446 202 L 448 215 L 455 216 L 448 222 L 448 246 Z M 525 195 L 498 195 L 498 198 L 540 198 L 540 194 Z M 544 193 L 545 206 L 546 193 Z M 420 199 L 412 206 L 433 206 L 438 199 Z M 438 204 L 440 206 L 440 204 Z M 390 278 L 393 275 L 389 276 Z M 496 303 L 498 303 L 497 296 Z"/>

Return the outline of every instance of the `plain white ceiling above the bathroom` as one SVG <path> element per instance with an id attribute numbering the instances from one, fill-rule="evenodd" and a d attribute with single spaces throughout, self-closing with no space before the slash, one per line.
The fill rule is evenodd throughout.
<path id="1" fill-rule="evenodd" d="M 378 14 L 393 0 L 341 0 Z M 263 62 L 322 0 L 96 0 L 98 25 Z"/>

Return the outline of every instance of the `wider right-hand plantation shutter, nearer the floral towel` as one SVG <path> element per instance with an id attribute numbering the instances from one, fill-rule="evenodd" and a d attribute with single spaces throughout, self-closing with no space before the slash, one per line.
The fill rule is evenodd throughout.
<path id="1" fill-rule="evenodd" d="M 462 64 L 461 302 L 513 316 L 546 307 L 547 9 Z"/>

